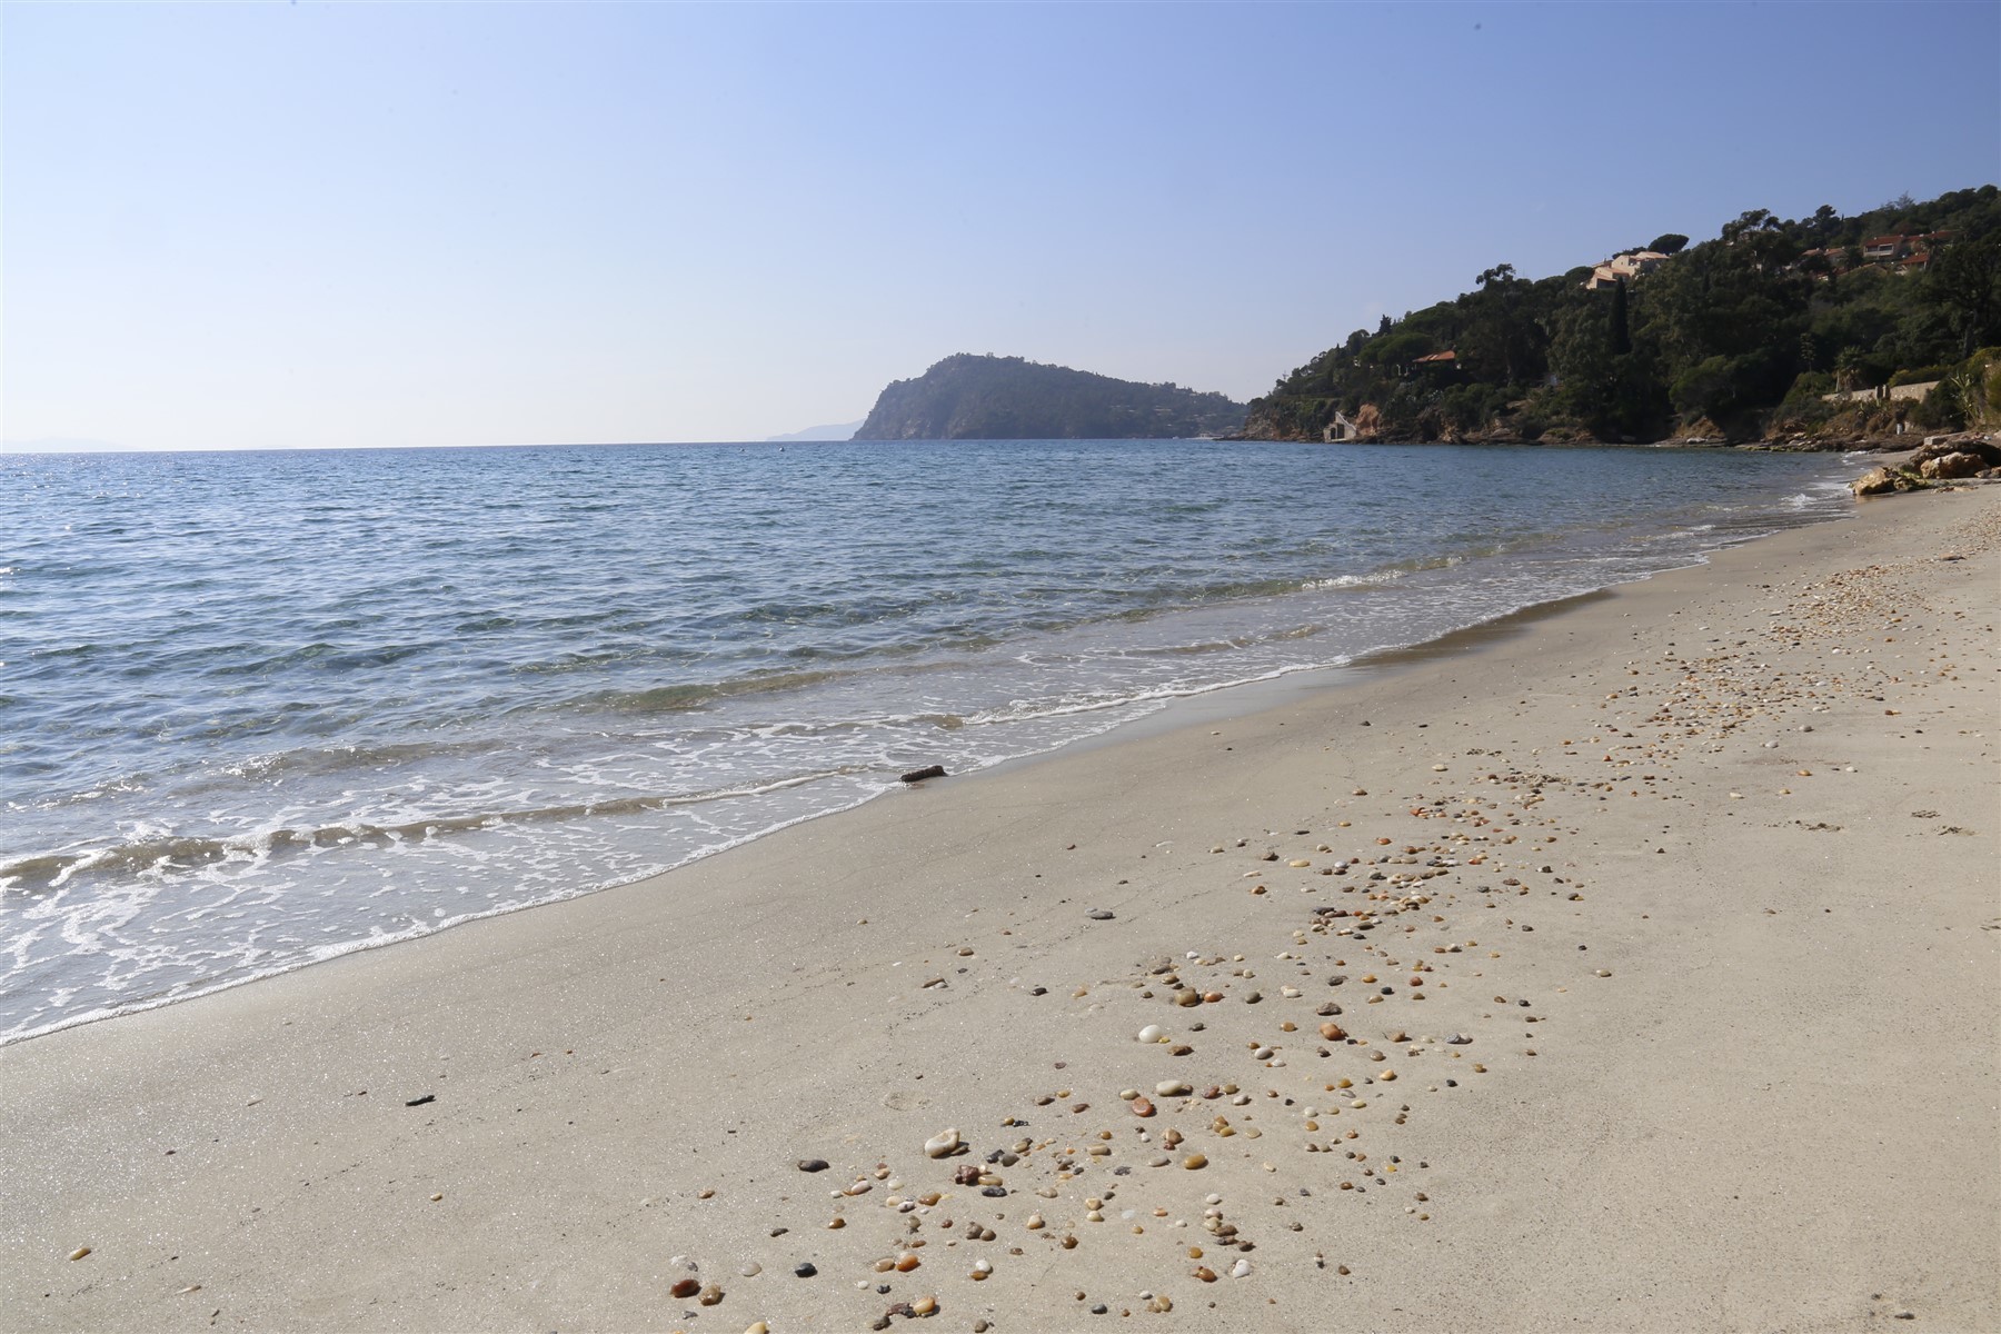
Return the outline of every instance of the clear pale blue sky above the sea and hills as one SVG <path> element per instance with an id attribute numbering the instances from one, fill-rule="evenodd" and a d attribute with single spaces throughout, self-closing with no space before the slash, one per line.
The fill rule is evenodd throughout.
<path id="1" fill-rule="evenodd" d="M 1509 262 L 2001 176 L 2001 4 L 0 6 L 0 436 L 1233 398 Z"/>

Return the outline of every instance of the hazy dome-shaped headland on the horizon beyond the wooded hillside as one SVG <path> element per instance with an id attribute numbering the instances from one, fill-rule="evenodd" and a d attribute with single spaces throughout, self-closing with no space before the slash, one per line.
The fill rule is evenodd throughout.
<path id="1" fill-rule="evenodd" d="M 948 356 L 876 398 L 856 440 L 1177 440 L 1221 436 L 1245 404 L 1019 356 Z"/>

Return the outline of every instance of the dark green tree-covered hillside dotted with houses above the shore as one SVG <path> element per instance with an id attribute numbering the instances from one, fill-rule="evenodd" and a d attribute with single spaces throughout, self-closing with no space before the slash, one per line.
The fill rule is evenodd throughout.
<path id="1" fill-rule="evenodd" d="M 1887 244 L 1895 238 L 1895 244 Z M 1715 240 L 1659 236 L 1647 272 L 1521 278 L 1355 330 L 1253 400 L 1245 436 L 1321 440 L 1337 412 L 1381 440 L 1785 438 L 1899 422 L 1951 430 L 1987 402 L 2001 342 L 2001 190 L 1843 218 L 1751 210 Z M 1871 246 L 1871 242 L 1879 242 Z M 1889 390 L 1939 380 L 1921 398 Z"/>

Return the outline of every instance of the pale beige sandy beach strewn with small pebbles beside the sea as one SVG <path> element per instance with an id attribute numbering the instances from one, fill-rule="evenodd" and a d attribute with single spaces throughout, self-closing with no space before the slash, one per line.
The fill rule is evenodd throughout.
<path id="1" fill-rule="evenodd" d="M 2001 1328 L 2001 490 L 1861 510 L 0 1050 L 0 1324 Z"/>

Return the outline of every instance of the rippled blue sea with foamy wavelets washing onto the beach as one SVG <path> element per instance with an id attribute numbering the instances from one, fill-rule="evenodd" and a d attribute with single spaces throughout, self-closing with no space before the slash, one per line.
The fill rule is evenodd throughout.
<path id="1" fill-rule="evenodd" d="M 0 458 L 0 1042 L 1695 564 L 1843 512 L 1849 472 L 1209 442 Z"/>

